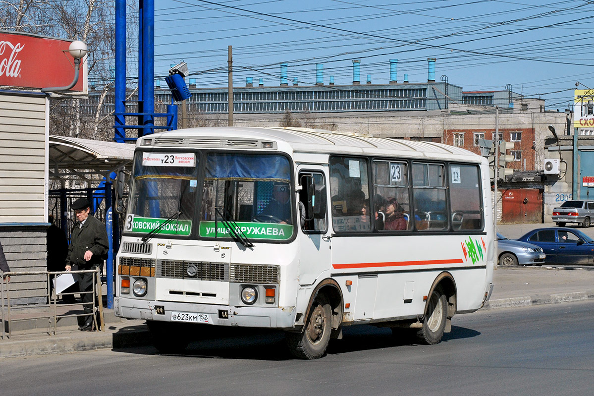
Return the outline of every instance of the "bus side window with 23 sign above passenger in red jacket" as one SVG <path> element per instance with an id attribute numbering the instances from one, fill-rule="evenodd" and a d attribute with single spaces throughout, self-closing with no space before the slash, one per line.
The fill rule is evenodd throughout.
<path id="1" fill-rule="evenodd" d="M 380 231 L 410 230 L 409 177 L 406 162 L 374 161 L 374 219 Z"/>

